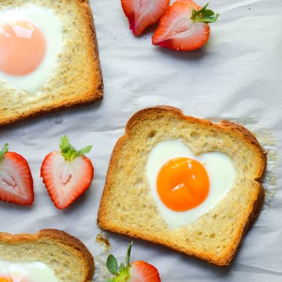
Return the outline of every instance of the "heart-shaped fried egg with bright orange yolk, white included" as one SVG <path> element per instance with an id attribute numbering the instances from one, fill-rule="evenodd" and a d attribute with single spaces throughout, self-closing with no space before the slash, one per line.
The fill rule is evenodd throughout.
<path id="1" fill-rule="evenodd" d="M 160 215 L 171 229 L 193 223 L 232 188 L 235 169 L 220 152 L 195 155 L 181 139 L 157 143 L 146 174 Z"/>

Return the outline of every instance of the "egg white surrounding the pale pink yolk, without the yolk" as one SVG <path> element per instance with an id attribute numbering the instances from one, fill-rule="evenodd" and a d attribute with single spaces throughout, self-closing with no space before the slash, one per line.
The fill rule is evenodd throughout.
<path id="1" fill-rule="evenodd" d="M 11 87 L 34 94 L 46 83 L 56 67 L 57 57 L 62 48 L 63 25 L 53 11 L 45 7 L 29 5 L 0 11 L 0 25 L 21 20 L 32 22 L 43 32 L 46 40 L 45 57 L 41 65 L 27 75 L 15 76 L 0 71 L 0 79 L 6 80 Z"/>

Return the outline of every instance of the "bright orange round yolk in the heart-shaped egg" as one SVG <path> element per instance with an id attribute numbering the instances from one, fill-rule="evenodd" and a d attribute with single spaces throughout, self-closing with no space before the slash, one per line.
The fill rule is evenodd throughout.
<path id="1" fill-rule="evenodd" d="M 169 209 L 187 211 L 204 202 L 210 183 L 202 164 L 187 157 L 170 159 L 157 176 L 157 192 Z"/>

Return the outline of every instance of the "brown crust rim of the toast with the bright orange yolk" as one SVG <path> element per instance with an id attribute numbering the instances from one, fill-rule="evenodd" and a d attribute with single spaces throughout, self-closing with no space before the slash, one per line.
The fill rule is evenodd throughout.
<path id="1" fill-rule="evenodd" d="M 148 116 L 150 115 L 150 113 L 163 112 L 163 111 L 168 111 L 172 114 L 175 114 L 181 119 L 193 120 L 194 122 L 213 126 L 218 129 L 223 129 L 223 130 L 228 130 L 228 131 L 232 130 L 233 132 L 235 132 L 235 134 L 239 134 L 242 138 L 244 138 L 248 144 L 250 144 L 251 146 L 254 146 L 257 149 L 258 153 L 260 154 L 261 166 L 260 166 L 259 171 L 257 172 L 257 175 L 254 175 L 254 182 L 257 184 L 256 185 L 257 189 L 256 189 L 256 193 L 253 195 L 252 204 L 250 205 L 250 208 L 247 211 L 247 216 L 244 218 L 244 225 L 238 228 L 238 231 L 233 241 L 233 245 L 221 257 L 215 256 L 213 254 L 207 255 L 206 253 L 203 253 L 203 252 L 196 253 L 196 252 L 187 251 L 184 248 L 179 248 L 178 246 L 168 244 L 164 240 L 160 240 L 158 238 L 152 238 L 150 236 L 147 236 L 142 233 L 135 232 L 135 231 L 123 230 L 119 226 L 115 226 L 107 222 L 106 199 L 108 198 L 108 195 L 110 193 L 110 189 L 111 189 L 110 185 L 112 183 L 113 171 L 117 163 L 117 157 L 118 157 L 119 151 L 122 150 L 123 144 L 126 142 L 126 140 L 131 137 L 131 130 L 132 128 L 134 128 L 134 125 L 139 122 L 140 118 L 146 115 Z M 130 236 L 130 237 L 138 238 L 138 239 L 144 239 L 144 240 L 150 241 L 151 243 L 155 243 L 158 245 L 168 247 L 169 249 L 177 251 L 179 253 L 186 254 L 191 257 L 196 257 L 201 260 L 205 260 L 209 264 L 220 266 L 220 267 L 228 267 L 232 259 L 234 258 L 235 254 L 237 253 L 239 246 L 244 238 L 244 235 L 249 230 L 249 228 L 254 224 L 261 208 L 263 207 L 265 191 L 264 191 L 264 188 L 261 182 L 265 175 L 266 165 L 267 165 L 267 153 L 265 152 L 263 147 L 260 146 L 260 144 L 254 137 L 254 135 L 249 130 L 247 130 L 245 127 L 241 125 L 238 125 L 232 122 L 228 122 L 227 120 L 221 121 L 220 124 L 211 123 L 209 120 L 206 120 L 206 119 L 186 116 L 183 114 L 183 112 L 180 109 L 177 109 L 171 106 L 156 106 L 156 107 L 150 107 L 150 108 L 139 110 L 138 112 L 136 112 L 129 118 L 126 124 L 125 134 L 117 140 L 114 146 L 114 149 L 113 149 L 113 152 L 110 158 L 107 176 L 106 176 L 105 188 L 104 188 L 102 198 L 100 200 L 99 209 L 98 209 L 97 224 L 100 228 L 113 232 L 113 233 L 118 233 L 118 234 Z"/>

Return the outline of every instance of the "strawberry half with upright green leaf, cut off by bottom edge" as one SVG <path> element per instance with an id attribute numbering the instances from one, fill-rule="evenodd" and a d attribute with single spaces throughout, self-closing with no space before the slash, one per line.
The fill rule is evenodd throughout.
<path id="1" fill-rule="evenodd" d="M 129 263 L 132 243 L 128 245 L 126 254 L 126 265 L 121 263 L 117 267 L 117 260 L 113 255 L 107 259 L 108 270 L 115 275 L 107 282 L 160 282 L 157 269 L 143 260 Z"/>

